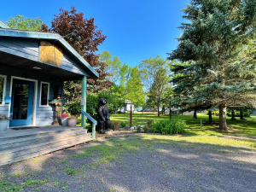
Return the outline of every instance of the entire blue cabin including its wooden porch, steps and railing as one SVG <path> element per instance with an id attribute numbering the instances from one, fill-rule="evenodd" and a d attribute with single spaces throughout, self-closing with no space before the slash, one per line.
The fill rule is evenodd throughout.
<path id="1" fill-rule="evenodd" d="M 0 129 L 0 166 L 94 139 L 86 81 L 98 76 L 59 34 L 13 30 L 0 20 L 0 114 L 12 117 L 8 129 Z M 49 101 L 63 98 L 64 81 L 76 79 L 82 79 L 82 126 L 53 125 L 55 105 Z M 85 129 L 86 117 L 92 133 Z"/>

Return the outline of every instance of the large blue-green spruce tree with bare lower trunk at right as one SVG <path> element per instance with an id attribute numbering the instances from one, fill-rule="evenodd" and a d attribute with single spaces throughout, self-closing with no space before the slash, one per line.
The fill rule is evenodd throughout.
<path id="1" fill-rule="evenodd" d="M 255 36 L 255 0 L 191 0 L 183 9 L 183 35 L 170 60 L 189 61 L 177 73 L 192 77 L 189 102 L 212 102 L 219 108 L 219 128 L 227 130 L 226 108 L 230 98 L 255 90 L 255 63 L 247 58 L 247 44 Z M 247 55 L 243 57 L 241 55 Z M 243 71 L 243 73 L 235 73 Z M 188 82 L 188 81 L 187 81 Z M 178 82 L 177 82 L 178 84 Z"/>

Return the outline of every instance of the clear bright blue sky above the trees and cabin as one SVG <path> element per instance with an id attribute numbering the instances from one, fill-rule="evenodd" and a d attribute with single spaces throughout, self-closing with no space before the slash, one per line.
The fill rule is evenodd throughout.
<path id="1" fill-rule="evenodd" d="M 99 53 L 108 50 L 129 66 L 166 53 L 177 47 L 177 29 L 183 21 L 181 11 L 189 0 L 9 0 L 1 3 L 0 20 L 15 15 L 39 17 L 50 26 L 59 9 L 71 6 L 83 12 L 84 17 L 95 18 L 96 26 L 107 35 Z"/>

